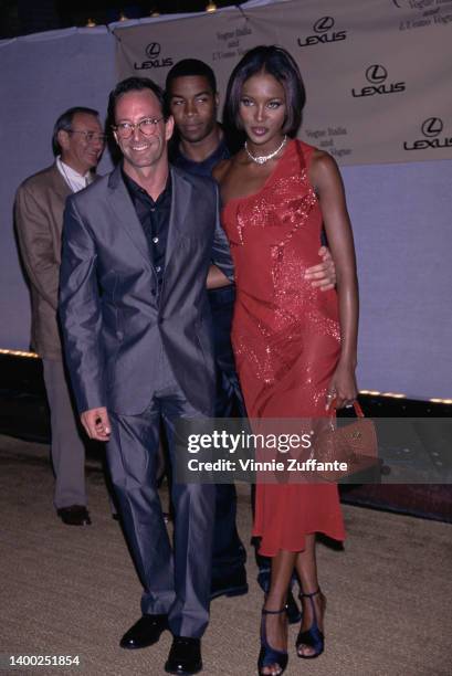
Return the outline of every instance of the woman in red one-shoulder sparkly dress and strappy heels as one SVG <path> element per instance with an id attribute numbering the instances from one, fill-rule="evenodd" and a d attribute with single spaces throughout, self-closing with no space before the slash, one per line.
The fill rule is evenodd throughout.
<path id="1" fill-rule="evenodd" d="M 232 345 L 250 419 L 318 418 L 356 395 L 358 293 L 343 182 L 335 160 L 293 137 L 304 87 L 292 56 L 276 46 L 248 52 L 234 68 L 229 116 L 244 148 L 219 165 L 223 226 L 235 265 Z M 325 229 L 337 291 L 313 288 Z M 335 484 L 256 486 L 254 535 L 272 557 L 261 625 L 259 673 L 287 664 L 284 606 L 294 569 L 302 585 L 299 657 L 324 649 L 325 596 L 317 580 L 316 532 L 343 540 Z"/>

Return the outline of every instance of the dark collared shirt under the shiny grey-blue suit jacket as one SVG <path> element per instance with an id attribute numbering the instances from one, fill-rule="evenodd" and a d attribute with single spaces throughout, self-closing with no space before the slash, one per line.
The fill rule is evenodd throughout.
<path id="1" fill-rule="evenodd" d="M 143 225 L 148 243 L 150 262 L 157 273 L 158 283 L 161 285 L 171 211 L 171 175 L 168 173 L 165 189 L 156 201 L 124 169 L 123 179 L 138 220 Z"/>

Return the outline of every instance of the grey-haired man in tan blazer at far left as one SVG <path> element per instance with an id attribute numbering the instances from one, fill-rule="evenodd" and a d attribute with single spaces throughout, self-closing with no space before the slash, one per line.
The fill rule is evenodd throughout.
<path id="1" fill-rule="evenodd" d="M 97 110 L 70 108 L 53 129 L 55 162 L 28 178 L 15 199 L 15 225 L 30 279 L 31 344 L 42 358 L 51 413 L 54 505 L 64 524 L 91 524 L 86 509 L 85 447 L 64 370 L 56 319 L 61 232 L 66 198 L 94 180 L 104 149 Z"/>

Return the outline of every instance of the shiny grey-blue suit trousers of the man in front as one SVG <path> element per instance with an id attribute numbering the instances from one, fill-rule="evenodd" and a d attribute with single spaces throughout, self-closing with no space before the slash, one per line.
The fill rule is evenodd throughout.
<path id="1" fill-rule="evenodd" d="M 156 475 L 160 421 L 172 464 L 178 416 L 204 418 L 169 376 L 144 413 L 109 412 L 107 458 L 124 530 L 144 587 L 141 612 L 167 613 L 174 635 L 200 637 L 209 621 L 216 487 L 174 483 L 172 551 Z"/>

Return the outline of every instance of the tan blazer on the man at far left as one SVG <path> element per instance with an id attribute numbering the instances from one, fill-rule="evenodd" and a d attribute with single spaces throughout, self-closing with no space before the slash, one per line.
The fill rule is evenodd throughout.
<path id="1" fill-rule="evenodd" d="M 52 165 L 28 178 L 15 196 L 15 228 L 31 288 L 31 346 L 45 359 L 62 359 L 56 308 L 63 211 L 70 194 Z"/>

